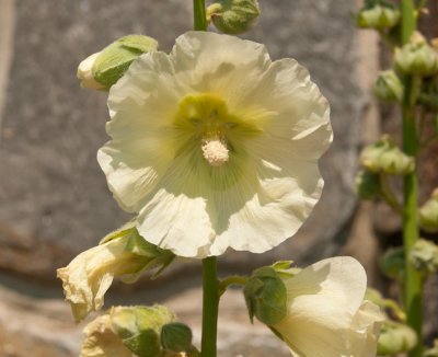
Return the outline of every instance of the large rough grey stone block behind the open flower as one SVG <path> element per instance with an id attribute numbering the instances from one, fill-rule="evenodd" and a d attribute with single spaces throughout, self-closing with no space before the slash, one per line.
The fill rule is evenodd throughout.
<path id="1" fill-rule="evenodd" d="M 332 103 L 335 142 L 322 160 L 326 188 L 312 218 L 269 254 L 229 255 L 230 265 L 242 267 L 277 257 L 314 261 L 345 241 L 362 103 L 350 1 L 261 5 L 263 16 L 247 37 L 265 43 L 273 58 L 295 57 L 310 69 Z M 15 12 L 0 143 L 0 206 L 8 208 L 0 210 L 0 267 L 48 278 L 127 218 L 95 160 L 107 140 L 105 94 L 79 89 L 77 65 L 127 33 L 147 33 L 169 50 L 192 26 L 191 3 L 28 0 L 18 1 Z"/>

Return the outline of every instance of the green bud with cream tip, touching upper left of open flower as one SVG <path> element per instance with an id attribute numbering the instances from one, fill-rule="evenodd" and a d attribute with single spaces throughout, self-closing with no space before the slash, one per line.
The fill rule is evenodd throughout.
<path id="1" fill-rule="evenodd" d="M 157 48 L 157 41 L 148 36 L 128 35 L 118 38 L 79 65 L 78 78 L 81 87 L 108 90 L 125 74 L 136 58 Z"/>

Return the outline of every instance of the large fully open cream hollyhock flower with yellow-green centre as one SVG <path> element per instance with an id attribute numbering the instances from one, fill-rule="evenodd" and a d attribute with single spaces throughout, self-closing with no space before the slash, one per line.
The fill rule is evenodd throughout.
<path id="1" fill-rule="evenodd" d="M 108 186 L 140 234 L 176 255 L 270 250 L 321 196 L 327 101 L 261 44 L 186 33 L 170 55 L 140 56 L 108 107 L 112 140 L 97 153 Z"/>

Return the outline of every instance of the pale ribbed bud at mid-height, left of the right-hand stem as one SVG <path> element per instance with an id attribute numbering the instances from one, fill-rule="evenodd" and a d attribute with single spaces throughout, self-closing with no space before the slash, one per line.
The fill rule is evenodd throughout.
<path id="1" fill-rule="evenodd" d="M 403 153 L 388 136 L 366 147 L 360 163 L 368 171 L 390 175 L 406 175 L 415 169 L 414 158 Z"/>

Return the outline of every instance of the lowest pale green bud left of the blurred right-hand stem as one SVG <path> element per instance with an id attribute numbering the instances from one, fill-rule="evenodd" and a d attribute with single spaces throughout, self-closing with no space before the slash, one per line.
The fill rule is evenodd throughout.
<path id="1" fill-rule="evenodd" d="M 377 354 L 393 356 L 411 350 L 416 344 L 417 335 L 414 330 L 405 324 L 387 320 L 380 331 Z"/>

